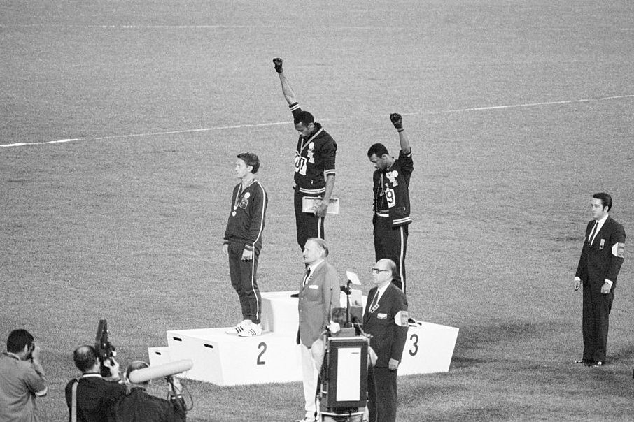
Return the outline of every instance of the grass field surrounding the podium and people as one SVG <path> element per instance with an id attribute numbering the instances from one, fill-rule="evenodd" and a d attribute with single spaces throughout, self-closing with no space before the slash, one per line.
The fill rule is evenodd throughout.
<path id="1" fill-rule="evenodd" d="M 295 288 L 296 133 L 276 56 L 339 145 L 326 238 L 342 283 L 369 284 L 365 151 L 396 152 L 388 115 L 404 115 L 410 311 L 460 334 L 449 373 L 400 377 L 399 420 L 631 419 L 630 247 L 610 364 L 571 364 L 591 194 L 610 192 L 633 230 L 631 1 L 0 4 L 0 341 L 24 327 L 41 344 L 48 420 L 66 419 L 71 351 L 100 318 L 124 367 L 166 330 L 239 319 L 220 247 L 239 152 L 260 156 L 269 192 L 261 289 Z M 299 383 L 190 390 L 191 420 L 302 414 Z"/>

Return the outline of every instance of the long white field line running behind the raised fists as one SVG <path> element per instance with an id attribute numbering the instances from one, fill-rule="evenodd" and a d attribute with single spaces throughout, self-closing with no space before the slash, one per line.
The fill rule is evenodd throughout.
<path id="1" fill-rule="evenodd" d="M 509 104 L 506 106 L 484 106 L 484 107 L 473 107 L 473 108 L 456 108 L 453 110 L 441 110 L 441 111 L 428 111 L 428 112 L 403 112 L 401 113 L 404 116 L 414 116 L 414 115 L 441 115 L 445 113 L 456 113 L 456 112 L 472 112 L 472 111 L 487 111 L 487 110 L 503 110 L 508 108 L 522 108 L 522 107 L 538 107 L 538 106 L 556 106 L 558 104 L 571 104 L 571 103 L 589 103 L 591 101 L 607 101 L 607 100 L 618 100 L 618 99 L 629 99 L 633 98 L 634 94 L 628 95 L 616 95 L 616 96 L 605 96 L 596 99 L 577 99 L 577 100 L 563 100 L 563 101 L 544 101 L 541 103 L 524 103 L 524 104 Z M 368 116 L 369 117 L 369 116 Z M 375 116 L 372 116 L 375 117 Z M 331 119 L 320 119 L 321 122 L 333 122 L 337 120 L 350 119 L 351 117 L 337 117 Z M 201 129 L 185 129 L 181 131 L 164 131 L 164 132 L 148 132 L 148 133 L 129 133 L 126 135 L 112 135 L 112 136 L 99 136 L 97 138 L 71 138 L 71 139 L 59 139 L 59 140 L 48 140 L 46 142 L 29 142 L 29 143 L 12 143 L 12 144 L 0 144 L 0 147 L 23 147 L 27 145 L 48 145 L 48 144 L 57 144 L 57 143 L 66 143 L 73 142 L 77 140 L 111 140 L 111 139 L 120 139 L 120 138 L 141 138 L 146 136 L 160 136 L 160 135 L 176 135 L 180 133 L 195 133 L 195 132 L 208 132 L 208 131 L 223 131 L 227 129 L 244 129 L 250 127 L 265 127 L 265 126 L 279 126 L 281 124 L 288 124 L 289 122 L 271 122 L 271 123 L 254 123 L 254 124 L 236 124 L 234 126 L 213 126 L 206 127 Z"/>

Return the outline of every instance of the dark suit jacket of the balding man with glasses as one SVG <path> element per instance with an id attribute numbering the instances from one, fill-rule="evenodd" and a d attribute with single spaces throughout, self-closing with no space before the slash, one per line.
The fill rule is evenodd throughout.
<path id="1" fill-rule="evenodd" d="M 372 334 L 370 346 L 376 352 L 376 366 L 387 368 L 391 359 L 401 361 L 403 348 L 407 341 L 407 298 L 397 286 L 388 284 L 383 296 L 376 303 L 373 312 L 370 309 L 378 289 L 373 287 L 367 293 L 367 303 L 363 314 L 363 330 Z"/>

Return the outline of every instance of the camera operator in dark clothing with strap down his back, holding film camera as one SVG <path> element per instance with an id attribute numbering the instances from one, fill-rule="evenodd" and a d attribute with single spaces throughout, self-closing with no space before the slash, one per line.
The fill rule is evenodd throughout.
<path id="1" fill-rule="evenodd" d="M 99 355 L 92 346 L 75 349 L 73 361 L 82 375 L 78 379 L 71 379 L 66 385 L 69 421 L 107 421 L 108 407 L 126 393 L 119 377 L 119 364 L 113 358 L 106 359 L 104 365 L 110 370 L 111 376 L 104 379 L 100 373 Z"/>

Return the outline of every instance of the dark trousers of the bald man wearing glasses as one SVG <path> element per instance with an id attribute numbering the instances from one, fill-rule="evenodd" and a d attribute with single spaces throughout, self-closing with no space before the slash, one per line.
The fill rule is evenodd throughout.
<path id="1" fill-rule="evenodd" d="M 367 372 L 369 422 L 396 421 L 396 377 L 398 371 L 370 368 Z"/>

